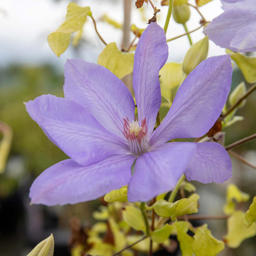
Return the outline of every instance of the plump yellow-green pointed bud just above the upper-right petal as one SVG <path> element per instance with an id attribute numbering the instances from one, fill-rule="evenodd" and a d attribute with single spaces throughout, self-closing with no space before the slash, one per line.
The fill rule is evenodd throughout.
<path id="1" fill-rule="evenodd" d="M 182 70 L 185 74 L 188 75 L 200 62 L 206 60 L 208 46 L 209 38 L 205 36 L 189 48 L 182 63 Z"/>

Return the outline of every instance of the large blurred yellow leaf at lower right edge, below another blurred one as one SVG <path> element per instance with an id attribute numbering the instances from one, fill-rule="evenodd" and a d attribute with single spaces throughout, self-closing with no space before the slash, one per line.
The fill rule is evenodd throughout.
<path id="1" fill-rule="evenodd" d="M 256 223 L 246 228 L 243 218 L 242 211 L 236 211 L 228 218 L 228 234 L 224 237 L 224 241 L 230 248 L 237 248 L 245 239 L 256 235 Z"/>

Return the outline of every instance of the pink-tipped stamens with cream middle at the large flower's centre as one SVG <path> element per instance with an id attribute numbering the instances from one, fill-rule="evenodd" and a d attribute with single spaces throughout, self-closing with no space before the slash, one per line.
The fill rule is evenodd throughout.
<path id="1" fill-rule="evenodd" d="M 126 119 L 124 119 L 124 136 L 133 154 L 141 155 L 145 153 L 149 148 L 146 118 L 142 120 L 140 126 L 136 117 L 135 121 L 133 120 L 132 122 L 126 117 Z"/>

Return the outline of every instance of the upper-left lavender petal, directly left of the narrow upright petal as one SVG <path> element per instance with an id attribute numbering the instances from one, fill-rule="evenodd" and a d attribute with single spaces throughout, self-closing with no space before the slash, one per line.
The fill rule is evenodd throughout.
<path id="1" fill-rule="evenodd" d="M 107 68 L 67 60 L 64 94 L 84 106 L 108 131 L 124 138 L 123 118 L 134 119 L 135 104 L 125 84 Z"/>

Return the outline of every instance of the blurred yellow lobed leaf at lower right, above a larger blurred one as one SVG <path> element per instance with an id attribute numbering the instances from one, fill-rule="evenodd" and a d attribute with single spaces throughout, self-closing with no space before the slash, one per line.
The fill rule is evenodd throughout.
<path id="1" fill-rule="evenodd" d="M 235 202 L 241 203 L 249 200 L 250 195 L 242 192 L 237 188 L 235 184 L 228 184 L 226 204 L 224 205 L 223 211 L 225 214 L 229 215 L 235 211 Z"/>

